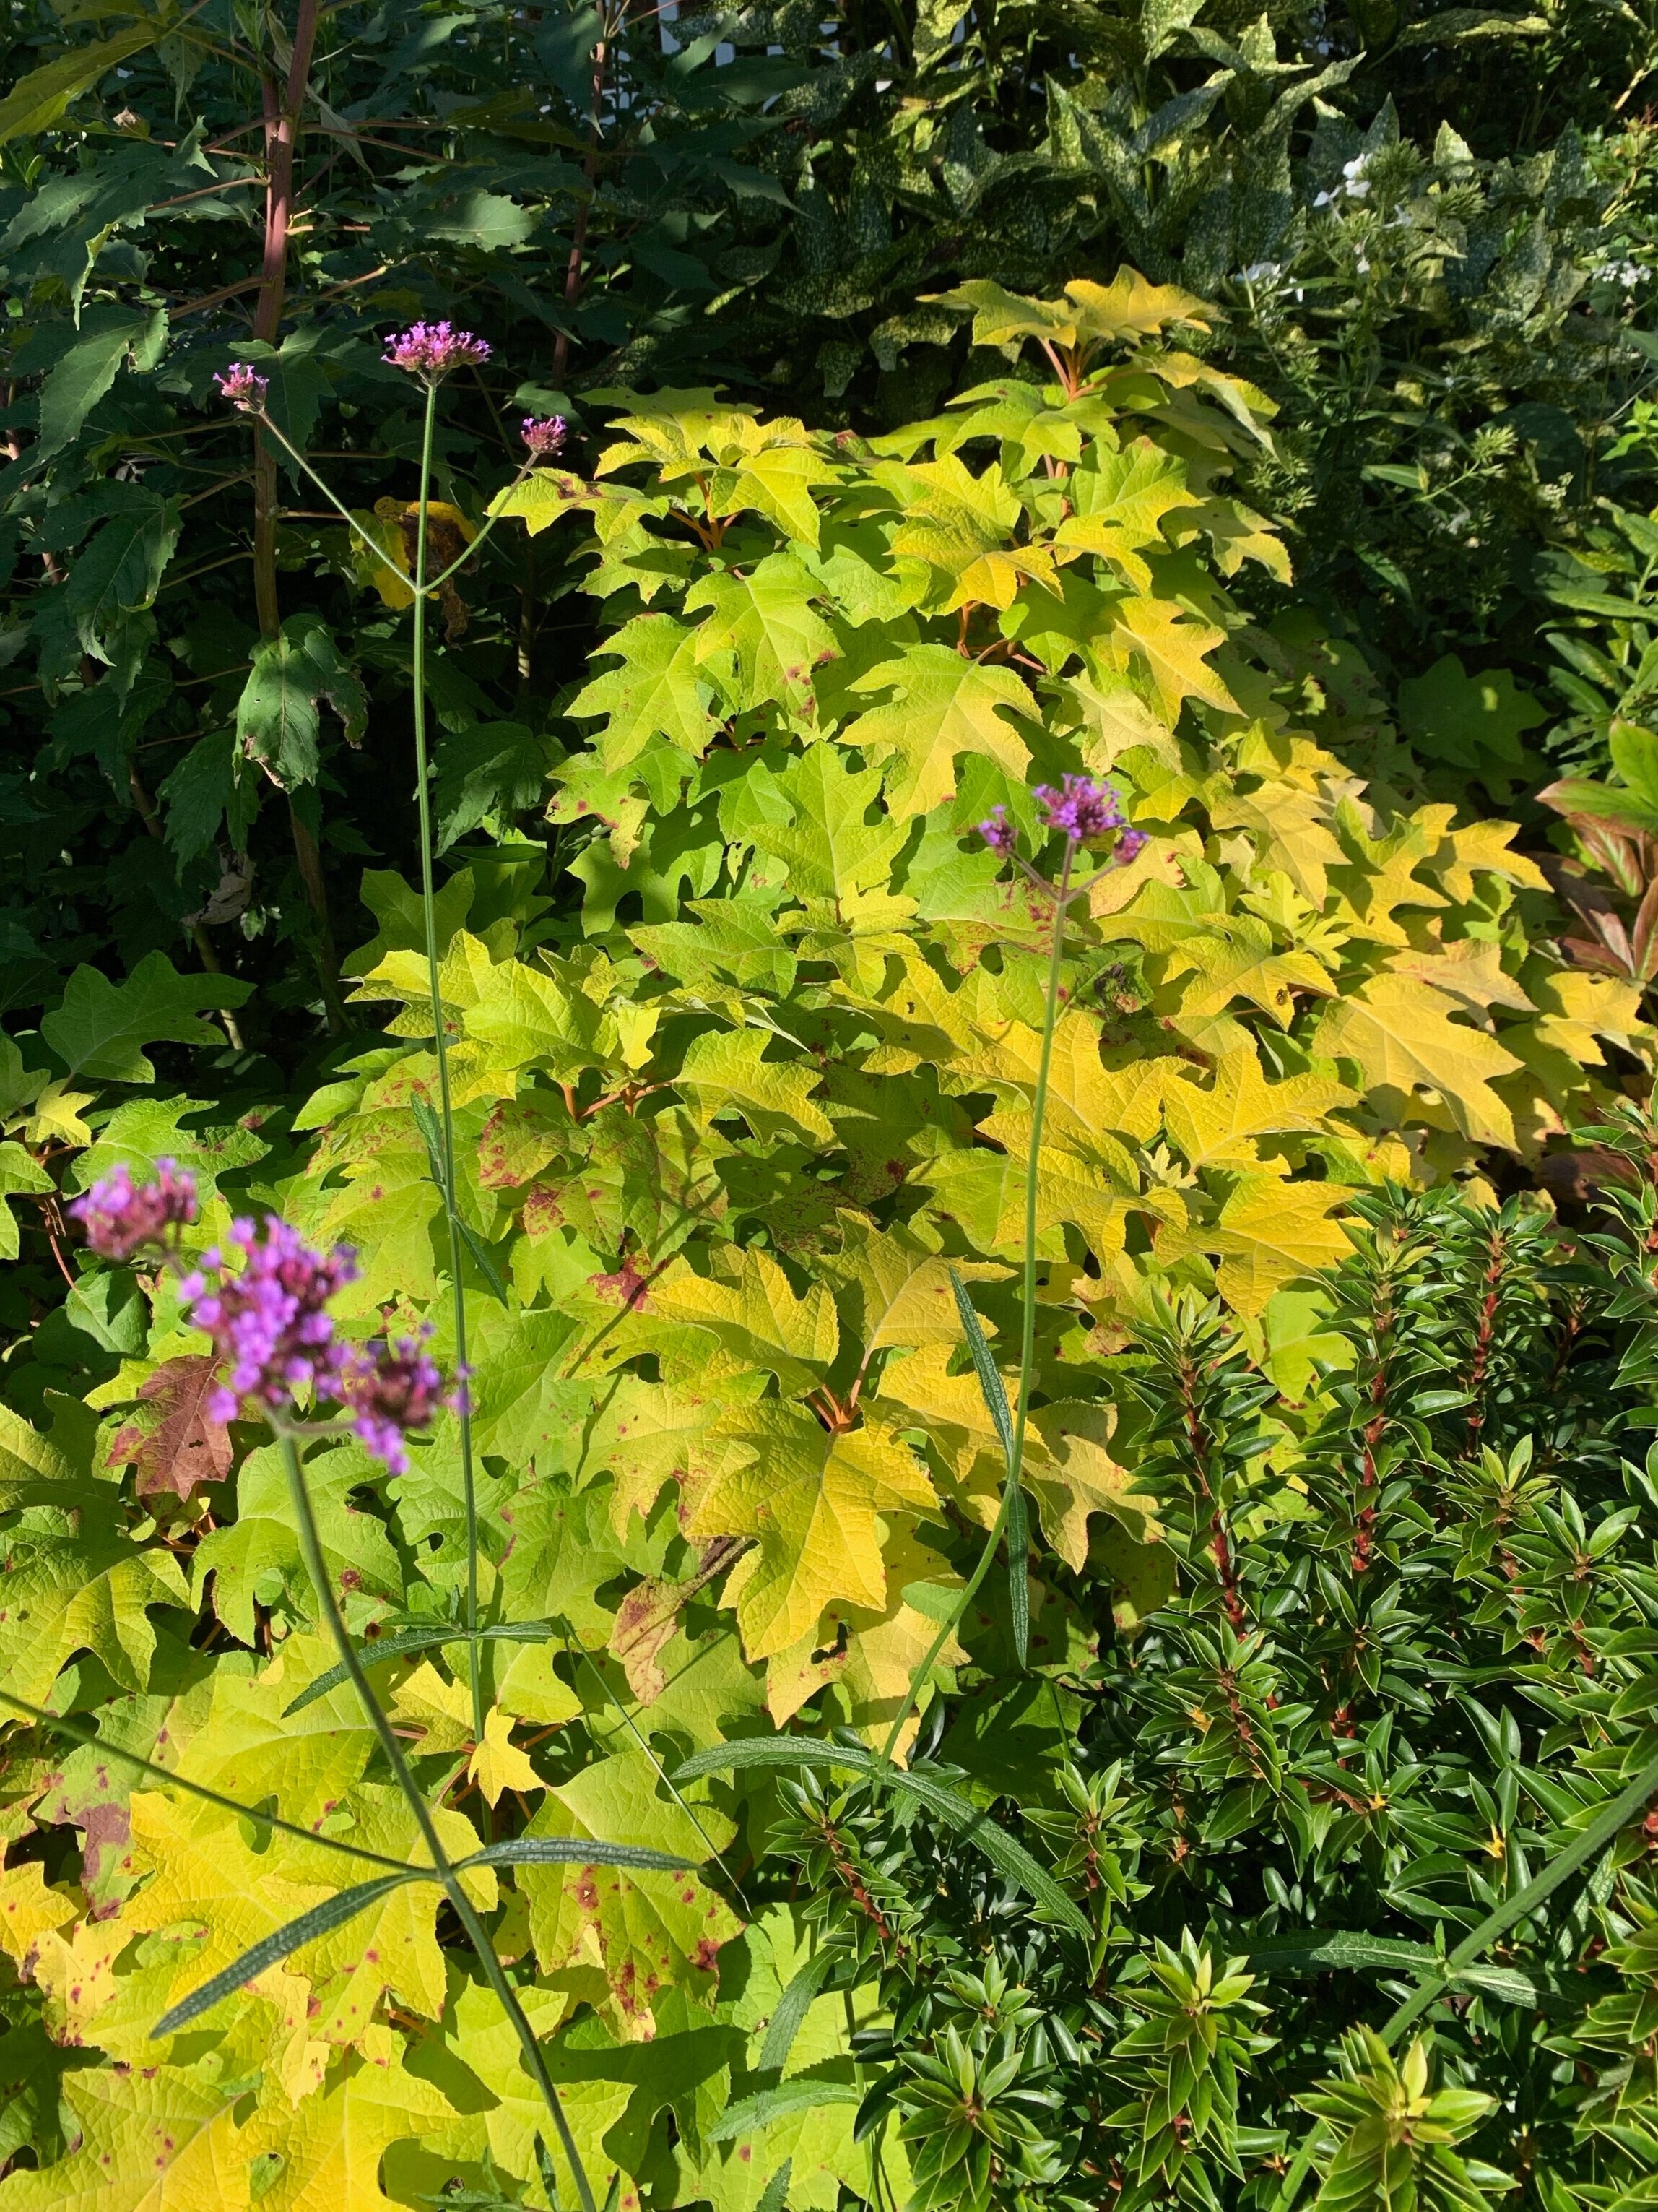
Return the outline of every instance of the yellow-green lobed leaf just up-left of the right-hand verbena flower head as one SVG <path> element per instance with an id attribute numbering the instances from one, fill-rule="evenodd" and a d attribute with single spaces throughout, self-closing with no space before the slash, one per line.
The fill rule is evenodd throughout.
<path id="1" fill-rule="evenodd" d="M 909 646 L 900 659 L 858 677 L 853 690 L 893 692 L 844 728 L 840 741 L 893 763 L 886 803 L 895 814 L 931 814 L 948 799 L 964 752 L 984 754 L 1024 781 L 1030 750 L 1001 717 L 1032 714 L 1035 701 L 1010 668 L 984 668 L 948 646 Z"/>

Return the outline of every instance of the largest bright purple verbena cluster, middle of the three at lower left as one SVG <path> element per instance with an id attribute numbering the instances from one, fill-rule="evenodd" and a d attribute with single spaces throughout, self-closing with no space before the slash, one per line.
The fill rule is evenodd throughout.
<path id="1" fill-rule="evenodd" d="M 208 1400 L 212 1420 L 230 1420 L 243 1398 L 281 1409 L 307 1383 L 318 1398 L 340 1398 L 349 1352 L 336 1343 L 325 1305 L 356 1281 L 356 1259 L 345 1248 L 329 1256 L 312 1252 L 274 1214 L 263 1223 L 232 1221 L 230 1250 L 243 1256 L 241 1274 L 225 1274 L 214 1245 L 179 1283 L 190 1321 L 230 1367 Z"/>

